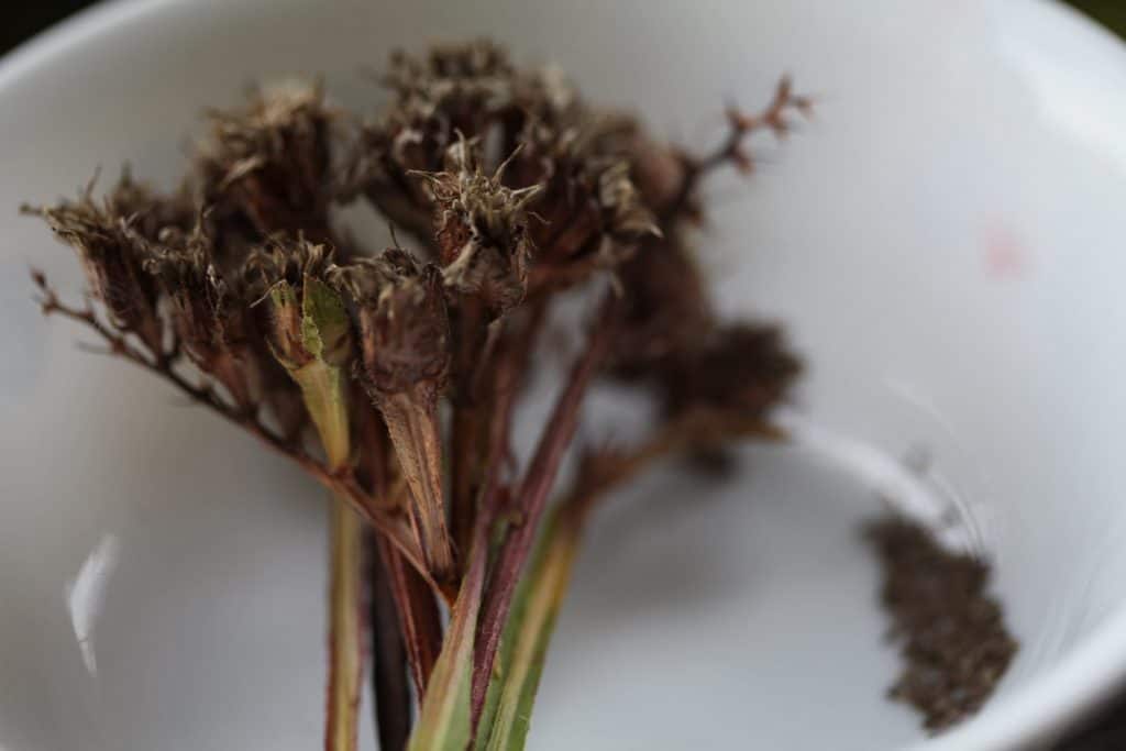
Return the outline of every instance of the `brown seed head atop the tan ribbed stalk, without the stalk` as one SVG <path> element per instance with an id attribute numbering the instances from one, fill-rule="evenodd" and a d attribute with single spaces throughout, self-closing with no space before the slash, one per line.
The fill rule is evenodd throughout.
<path id="1" fill-rule="evenodd" d="M 402 250 L 340 269 L 338 284 L 356 302 L 363 381 L 373 397 L 413 387 L 437 395 L 449 373 L 449 319 L 437 267 Z"/>

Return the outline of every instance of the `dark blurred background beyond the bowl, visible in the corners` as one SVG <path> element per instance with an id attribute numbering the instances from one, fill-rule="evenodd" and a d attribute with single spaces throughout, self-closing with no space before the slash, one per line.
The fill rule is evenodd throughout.
<path id="1" fill-rule="evenodd" d="M 1038 0 L 1028 0 L 1038 1 Z M 8 52 L 52 24 L 87 6 L 90 0 L 34 0 L 7 3 L 0 25 L 0 54 Z M 1067 0 L 1067 5 L 1126 37 L 1126 0 Z M 1054 751 L 1110 751 L 1126 749 L 1126 696 L 1096 722 Z"/>

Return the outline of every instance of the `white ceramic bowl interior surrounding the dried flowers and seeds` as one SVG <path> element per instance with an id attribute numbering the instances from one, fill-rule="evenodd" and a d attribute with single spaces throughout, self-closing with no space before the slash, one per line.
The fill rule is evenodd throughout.
<path id="1" fill-rule="evenodd" d="M 1108 35 L 1034 0 L 134 1 L 0 65 L 0 748 L 312 749 L 323 698 L 318 491 L 41 320 L 27 266 L 72 294 L 79 274 L 16 206 L 126 159 L 171 179 L 199 109 L 248 81 L 319 72 L 364 106 L 359 70 L 392 45 L 483 33 L 699 143 L 781 71 L 821 95 L 750 184 L 714 186 L 705 257 L 726 310 L 790 327 L 804 414 L 929 450 L 1024 644 L 977 718 L 923 742 L 883 698 L 896 662 L 856 537 L 875 493 L 807 450 L 752 450 L 731 485 L 656 473 L 599 519 L 530 748 L 1022 748 L 1126 677 Z M 99 594 L 75 623 L 68 604 Z"/>

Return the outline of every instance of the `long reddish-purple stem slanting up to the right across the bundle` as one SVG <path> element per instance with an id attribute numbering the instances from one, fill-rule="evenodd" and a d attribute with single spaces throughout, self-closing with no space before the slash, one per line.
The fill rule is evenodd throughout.
<path id="1" fill-rule="evenodd" d="M 579 423 L 579 408 L 596 372 L 613 341 L 617 301 L 608 298 L 600 307 L 597 325 L 591 330 L 587 349 L 572 366 L 566 386 L 560 394 L 551 420 L 544 429 L 516 495 L 515 511 L 519 515 L 501 546 L 490 578 L 475 650 L 472 712 L 473 724 L 481 718 L 489 678 L 500 644 L 500 635 L 512 604 L 524 563 L 531 551 L 536 528 L 555 484 L 563 456 Z"/>

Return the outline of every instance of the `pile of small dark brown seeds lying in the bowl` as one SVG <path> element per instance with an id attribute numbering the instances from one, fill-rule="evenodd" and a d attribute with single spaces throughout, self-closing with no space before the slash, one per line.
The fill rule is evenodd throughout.
<path id="1" fill-rule="evenodd" d="M 890 638 L 904 662 L 888 696 L 914 706 L 928 730 L 949 727 L 982 707 L 1017 652 L 1000 604 L 985 591 L 989 565 L 944 549 L 900 517 L 866 533 L 883 567 Z"/>

